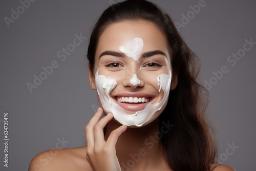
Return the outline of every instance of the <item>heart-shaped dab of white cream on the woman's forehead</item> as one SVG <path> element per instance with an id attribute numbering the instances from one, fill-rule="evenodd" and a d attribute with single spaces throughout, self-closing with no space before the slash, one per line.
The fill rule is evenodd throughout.
<path id="1" fill-rule="evenodd" d="M 138 61 L 143 48 L 143 40 L 141 38 L 134 38 L 132 41 L 127 42 L 125 45 L 120 46 L 119 50 L 126 56 Z"/>

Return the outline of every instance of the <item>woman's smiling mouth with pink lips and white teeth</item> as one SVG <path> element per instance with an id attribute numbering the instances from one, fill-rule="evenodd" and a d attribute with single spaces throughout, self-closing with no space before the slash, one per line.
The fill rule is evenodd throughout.
<path id="1" fill-rule="evenodd" d="M 112 96 L 113 97 L 113 96 Z M 113 100 L 126 111 L 138 112 L 145 109 L 155 97 L 146 93 L 120 93 L 113 97 Z"/>

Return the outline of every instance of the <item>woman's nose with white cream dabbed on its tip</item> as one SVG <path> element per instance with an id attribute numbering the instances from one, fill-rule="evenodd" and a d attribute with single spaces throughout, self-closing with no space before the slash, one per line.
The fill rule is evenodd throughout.
<path id="1" fill-rule="evenodd" d="M 144 86 L 144 81 L 137 74 L 129 73 L 124 76 L 122 84 L 123 87 L 138 88 Z"/>

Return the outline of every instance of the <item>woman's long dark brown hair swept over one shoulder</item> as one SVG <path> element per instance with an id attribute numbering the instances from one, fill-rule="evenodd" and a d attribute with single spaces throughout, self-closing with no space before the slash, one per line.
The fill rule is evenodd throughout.
<path id="1" fill-rule="evenodd" d="M 160 126 L 168 120 L 175 125 L 161 139 L 165 159 L 175 171 L 210 170 L 210 164 L 216 162 L 217 149 L 205 116 L 208 92 L 196 81 L 200 60 L 187 47 L 166 12 L 145 0 L 127 0 L 106 9 L 90 38 L 87 57 L 91 70 L 102 31 L 122 20 L 141 19 L 154 23 L 164 33 L 173 74 L 178 76 L 177 87 L 170 91 L 166 108 L 160 115 Z"/>

